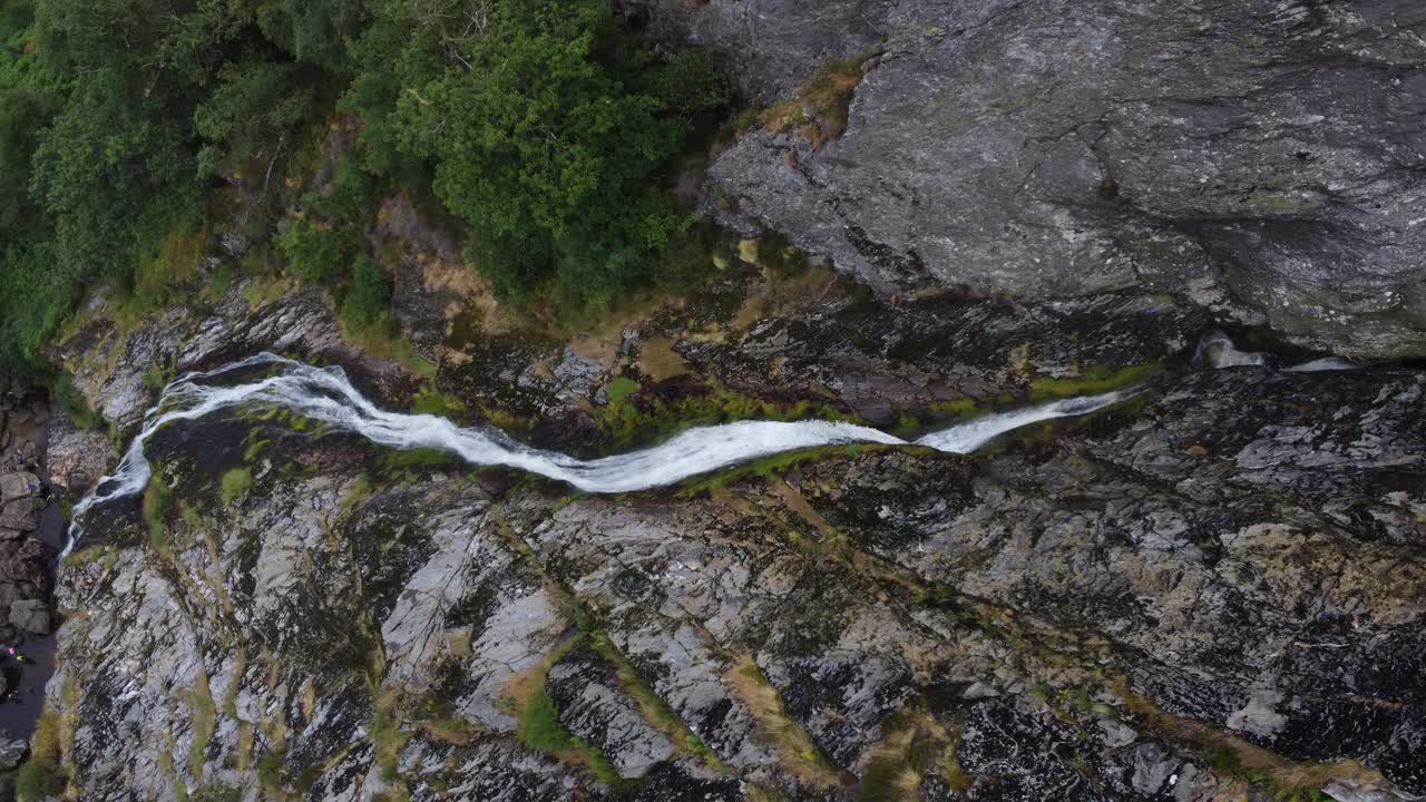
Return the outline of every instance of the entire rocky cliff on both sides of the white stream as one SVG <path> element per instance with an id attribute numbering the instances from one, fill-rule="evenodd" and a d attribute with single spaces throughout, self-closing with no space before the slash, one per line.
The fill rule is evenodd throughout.
<path id="1" fill-rule="evenodd" d="M 1142 391 L 973 455 L 622 495 L 281 410 L 174 421 L 58 568 L 33 799 L 1426 798 L 1426 13 L 619 6 L 761 104 L 710 161 L 746 238 L 704 285 L 512 320 L 392 197 L 368 235 L 399 337 L 354 337 L 222 237 L 184 303 L 96 293 L 66 327 L 50 355 L 110 432 L 24 412 L 50 422 L 6 519 L 78 498 L 174 375 L 260 350 L 583 457 Z M 27 537 L 0 529 L 33 552 L 0 592 L 33 602 Z"/>

